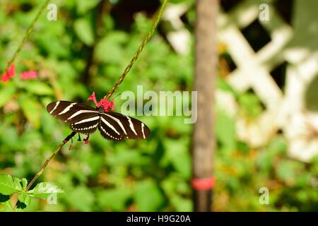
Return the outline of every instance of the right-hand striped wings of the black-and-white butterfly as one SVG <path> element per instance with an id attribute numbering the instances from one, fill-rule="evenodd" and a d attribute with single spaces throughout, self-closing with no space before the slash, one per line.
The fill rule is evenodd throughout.
<path id="1" fill-rule="evenodd" d="M 103 138 L 111 141 L 146 139 L 151 134 L 143 122 L 116 112 L 103 113 L 98 129 Z"/>

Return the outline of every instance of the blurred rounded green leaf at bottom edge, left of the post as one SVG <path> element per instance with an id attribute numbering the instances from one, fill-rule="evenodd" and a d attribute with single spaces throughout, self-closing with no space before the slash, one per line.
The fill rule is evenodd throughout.
<path id="1" fill-rule="evenodd" d="M 158 211 L 165 198 L 153 181 L 136 184 L 135 201 L 139 211 Z"/>

